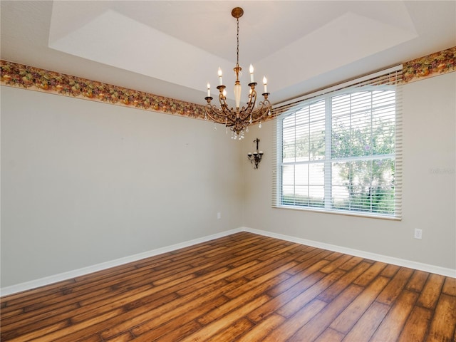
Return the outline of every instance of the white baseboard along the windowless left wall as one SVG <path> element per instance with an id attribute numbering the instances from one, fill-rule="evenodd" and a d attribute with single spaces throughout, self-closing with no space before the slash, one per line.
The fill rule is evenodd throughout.
<path id="1" fill-rule="evenodd" d="M 130 255 L 129 257 L 115 259 L 112 261 L 106 261 L 101 264 L 95 264 L 92 266 L 83 267 L 81 269 L 75 269 L 73 271 L 55 274 L 53 276 L 46 276 L 45 278 L 36 279 L 36 280 L 32 280 L 32 281 L 26 281 L 25 283 L 21 283 L 21 284 L 6 286 L 6 287 L 3 287 L 0 289 L 0 296 L 8 296 L 9 294 L 16 294 L 21 291 L 36 289 L 37 287 L 53 284 L 58 281 L 72 279 L 72 278 L 76 278 L 76 276 L 83 276 L 85 274 L 93 273 L 96 271 L 101 271 L 103 269 L 109 269 L 111 267 L 128 264 L 129 262 L 138 261 L 138 260 L 149 258 L 149 257 L 154 257 L 155 255 L 158 255 L 158 254 L 172 252 L 172 251 L 175 251 L 176 249 L 190 247 L 194 244 L 200 244 L 202 242 L 207 242 L 209 240 L 218 239 L 219 237 L 226 237 L 227 235 L 231 235 L 231 234 L 238 233 L 238 232 L 242 232 L 242 228 L 231 229 L 231 230 L 227 230 L 226 232 L 212 234 L 207 237 L 200 237 L 198 239 L 192 239 L 190 241 L 181 242 L 180 244 L 172 244 L 171 246 L 161 247 L 161 248 L 157 248 L 157 249 L 152 249 L 151 251 Z"/>

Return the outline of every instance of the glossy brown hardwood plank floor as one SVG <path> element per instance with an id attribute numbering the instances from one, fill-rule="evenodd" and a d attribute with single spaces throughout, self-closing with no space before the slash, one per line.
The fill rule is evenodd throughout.
<path id="1" fill-rule="evenodd" d="M 456 279 L 242 232 L 1 298 L 1 341 L 456 341 Z"/>

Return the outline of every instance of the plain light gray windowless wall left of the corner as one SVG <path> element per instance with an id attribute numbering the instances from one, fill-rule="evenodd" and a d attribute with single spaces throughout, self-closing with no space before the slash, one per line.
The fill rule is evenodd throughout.
<path id="1" fill-rule="evenodd" d="M 1 287 L 242 226 L 240 146 L 204 120 L 2 86 Z"/>

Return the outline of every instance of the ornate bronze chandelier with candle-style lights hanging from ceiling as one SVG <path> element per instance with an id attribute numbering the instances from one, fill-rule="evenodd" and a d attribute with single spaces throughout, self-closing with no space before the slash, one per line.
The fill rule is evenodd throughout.
<path id="1" fill-rule="evenodd" d="M 219 102 L 220 108 L 217 108 L 216 105 L 211 104 L 211 87 L 207 83 L 207 97 L 204 99 L 207 100 L 207 105 L 205 106 L 205 115 L 204 118 L 207 120 L 207 117 L 214 123 L 222 123 L 232 130 L 232 139 L 244 139 L 244 132 L 249 131 L 249 125 L 254 123 L 259 123 L 259 128 L 261 128 L 261 120 L 264 120 L 266 116 L 271 115 L 271 103 L 268 100 L 269 93 L 267 92 L 267 80 L 266 77 L 263 78 L 264 84 L 264 93 L 261 95 L 264 96 L 264 100 L 259 101 L 257 107 L 257 90 L 255 86 L 257 83 L 254 82 L 254 68 L 252 64 L 250 65 L 250 83 L 249 83 L 249 101 L 246 105 L 240 107 L 241 103 L 241 83 L 239 82 L 239 73 L 242 71 L 242 68 L 239 66 L 239 18 L 244 14 L 244 10 L 240 7 L 236 7 L 232 10 L 231 15 L 236 18 L 237 22 L 237 50 L 236 50 L 236 66 L 234 67 L 234 74 L 236 75 L 236 81 L 234 82 L 234 101 L 236 103 L 236 108 L 229 108 L 227 105 L 227 88 L 223 85 L 222 81 L 222 70 L 219 68 Z M 214 128 L 217 129 L 217 128 Z"/>

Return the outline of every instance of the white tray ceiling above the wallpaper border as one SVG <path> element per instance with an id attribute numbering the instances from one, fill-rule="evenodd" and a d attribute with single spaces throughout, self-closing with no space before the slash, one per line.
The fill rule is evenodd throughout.
<path id="1" fill-rule="evenodd" d="M 272 103 L 456 46 L 456 1 L 1 0 L 1 59 L 204 104 L 219 66 L 232 96 L 236 6 Z"/>

